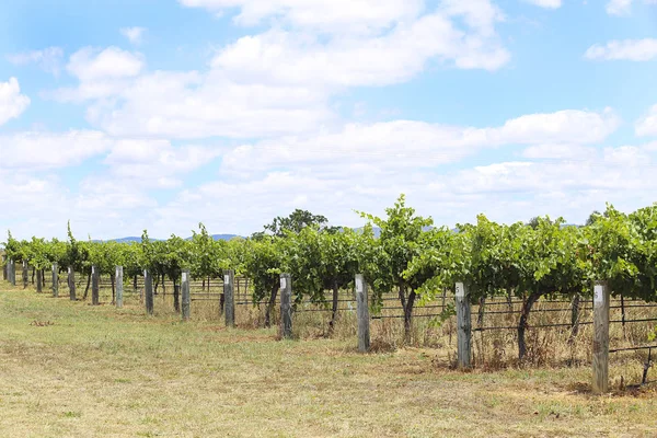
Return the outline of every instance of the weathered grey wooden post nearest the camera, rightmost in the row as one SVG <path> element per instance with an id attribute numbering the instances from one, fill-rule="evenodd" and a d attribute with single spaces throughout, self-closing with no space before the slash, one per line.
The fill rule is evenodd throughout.
<path id="1" fill-rule="evenodd" d="M 593 393 L 609 391 L 609 286 L 593 285 Z"/>

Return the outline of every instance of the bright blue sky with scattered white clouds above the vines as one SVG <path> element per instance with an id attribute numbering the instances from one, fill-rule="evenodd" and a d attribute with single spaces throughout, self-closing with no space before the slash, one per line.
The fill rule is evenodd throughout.
<path id="1" fill-rule="evenodd" d="M 657 200 L 657 0 L 0 5 L 0 240 Z"/>

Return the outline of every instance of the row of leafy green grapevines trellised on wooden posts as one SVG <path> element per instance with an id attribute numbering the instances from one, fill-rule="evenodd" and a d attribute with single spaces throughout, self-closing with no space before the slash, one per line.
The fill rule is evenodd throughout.
<path id="1" fill-rule="evenodd" d="M 12 285 L 149 314 L 280 326 L 281 337 L 358 337 L 360 350 L 446 351 L 448 367 L 633 364 L 648 382 L 657 325 L 657 206 L 608 206 L 585 226 L 479 216 L 451 230 L 404 197 L 361 230 L 296 211 L 249 239 L 117 243 L 33 238 L 4 243 Z M 376 231 L 376 232 L 374 232 Z M 371 339 L 371 341 L 370 341 Z M 592 348 L 591 348 L 592 345 Z M 356 346 L 356 344 L 355 344 Z M 655 346 L 657 348 L 657 346 Z"/>

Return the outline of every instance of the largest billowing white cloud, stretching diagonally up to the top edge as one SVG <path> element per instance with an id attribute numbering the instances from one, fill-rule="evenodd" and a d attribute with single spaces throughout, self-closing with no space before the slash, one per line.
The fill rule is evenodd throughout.
<path id="1" fill-rule="evenodd" d="M 187 4 L 217 11 L 244 7 L 244 13 L 254 12 L 256 3 L 264 8 L 262 19 L 285 14 L 295 23 L 311 20 L 300 12 L 304 8 L 328 8 L 328 3 L 296 0 L 249 5 L 222 1 Z M 80 78 L 80 85 L 50 95 L 65 101 L 91 101 L 88 120 L 114 136 L 301 135 L 334 125 L 338 116 L 332 99 L 349 87 L 408 81 L 431 62 L 496 70 L 509 59 L 495 32 L 495 24 L 504 16 L 488 0 L 445 0 L 424 15 L 407 3 L 389 3 L 391 8 L 399 5 L 393 8 L 397 12 L 377 8 L 368 12 L 374 23 L 368 24 L 371 32 L 319 35 L 275 26 L 224 46 L 206 72 L 140 73 L 143 62 L 138 54 L 116 48 L 90 54 L 90 49 L 84 49 L 69 64 L 69 71 Z M 274 9 L 269 11 L 269 7 Z M 351 12 L 335 14 L 326 21 L 355 20 Z M 402 20 L 405 18 L 408 20 Z M 111 70 L 110 66 L 124 67 Z M 115 74 L 108 77 L 108 70 Z"/>

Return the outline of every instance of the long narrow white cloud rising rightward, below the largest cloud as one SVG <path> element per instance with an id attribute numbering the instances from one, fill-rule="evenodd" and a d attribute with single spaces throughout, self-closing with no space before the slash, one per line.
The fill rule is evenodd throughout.
<path id="1" fill-rule="evenodd" d="M 531 158 L 548 158 L 545 145 L 573 145 L 573 151 L 604 140 L 619 126 L 611 110 L 601 113 L 560 111 L 531 114 L 489 128 L 395 120 L 349 124 L 336 132 L 288 137 L 243 145 L 222 158 L 228 174 L 247 176 L 268 169 L 303 166 L 327 175 L 359 166 L 377 173 L 392 169 L 427 169 L 460 161 L 483 148 L 537 145 Z M 560 158 L 564 155 L 555 154 Z M 337 171 L 335 171 L 337 170 Z"/>

